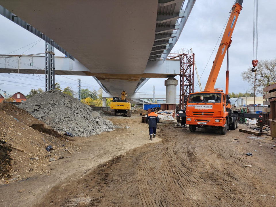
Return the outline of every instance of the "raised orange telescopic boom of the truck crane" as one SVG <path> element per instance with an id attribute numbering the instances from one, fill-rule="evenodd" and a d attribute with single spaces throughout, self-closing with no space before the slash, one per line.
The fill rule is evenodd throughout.
<path id="1" fill-rule="evenodd" d="M 221 39 L 221 43 L 218 48 L 218 52 L 216 53 L 216 58 L 214 60 L 208 81 L 206 83 L 204 91 L 214 91 L 214 86 L 216 83 L 216 79 L 218 77 L 219 70 L 221 69 L 221 65 L 226 53 L 226 50 L 231 45 L 231 35 L 233 34 L 233 30 L 235 28 L 237 18 L 239 16 L 239 13 L 241 11 L 241 4 L 243 0 L 236 0 L 235 4 L 233 5 L 231 9 L 231 14 L 227 23 L 227 26 L 225 28 L 223 37 Z"/>

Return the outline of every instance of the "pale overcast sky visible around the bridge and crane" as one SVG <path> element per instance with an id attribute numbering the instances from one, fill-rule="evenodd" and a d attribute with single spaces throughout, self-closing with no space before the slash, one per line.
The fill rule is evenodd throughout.
<path id="1" fill-rule="evenodd" d="M 172 52 L 181 48 L 193 48 L 195 53 L 195 61 L 198 72 L 201 76 L 210 55 L 218 41 L 218 38 L 223 30 L 225 22 L 229 16 L 229 11 L 233 5 L 233 0 L 224 1 L 205 1 L 197 0 L 191 14 L 187 20 L 181 36 L 173 48 Z M 235 30 L 232 35 L 232 44 L 230 47 L 229 57 L 229 92 L 245 92 L 243 89 L 250 87 L 240 76 L 241 72 L 252 66 L 252 49 L 253 49 L 253 0 L 244 1 L 243 8 L 237 20 Z M 275 42 L 275 21 L 276 21 L 276 1 L 262 0 L 259 2 L 259 30 L 258 30 L 258 60 L 271 59 L 276 57 L 276 42 Z M 0 54 L 8 54 L 25 45 L 40 40 L 39 37 L 31 34 L 27 30 L 14 24 L 0 15 Z M 219 42 L 221 41 L 221 38 Z M 35 43 L 34 43 L 35 44 Z M 32 45 L 34 45 L 32 44 Z M 45 42 L 40 41 L 35 46 L 30 48 L 24 47 L 11 54 L 41 53 L 45 51 Z M 30 48 L 30 49 L 29 49 Z M 212 68 L 212 63 L 215 58 L 218 46 L 214 50 L 210 61 L 201 77 L 202 87 L 205 87 L 209 72 Z M 59 51 L 55 50 L 57 56 L 64 56 Z M 0 59 L 0 64 L 3 64 L 3 59 Z M 1 65 L 3 66 L 3 65 Z M 226 70 L 226 56 L 221 67 L 218 79 L 216 81 L 217 88 L 225 89 L 225 70 Z M 30 89 L 41 87 L 44 89 L 45 78 L 32 75 L 20 74 L 0 74 L 0 89 L 7 91 L 7 93 L 22 92 L 28 94 Z M 75 81 L 69 80 L 66 77 L 55 76 L 56 82 L 60 82 L 62 89 L 70 85 L 77 90 L 77 78 L 81 78 L 82 86 L 99 87 L 97 82 L 91 76 L 67 76 Z M 5 82 L 15 81 L 16 83 Z M 179 77 L 177 77 L 179 80 Z M 5 80 L 5 81 L 3 81 Z M 165 94 L 166 88 L 164 86 L 165 78 L 151 78 L 138 92 L 151 92 L 152 86 L 155 85 L 155 94 Z M 70 81 L 71 83 L 68 83 Z M 195 91 L 199 91 L 195 76 Z M 4 83 L 4 84 L 3 84 Z M 24 84 L 20 84 L 24 83 Z M 1 85 L 2 84 L 2 85 Z M 10 85 L 7 85 L 10 84 Z M 27 85 L 32 84 L 32 85 Z M 17 86 L 14 86 L 17 85 Z M 35 85 L 35 86 L 33 86 Z M 20 87 L 18 87 L 20 86 Z M 24 87 L 21 87 L 24 86 Z M 95 88 L 98 89 L 98 88 Z M 2 93 L 2 92 L 0 92 Z M 3 94 L 3 93 L 2 93 Z M 179 86 L 177 86 L 177 94 L 179 94 Z"/>

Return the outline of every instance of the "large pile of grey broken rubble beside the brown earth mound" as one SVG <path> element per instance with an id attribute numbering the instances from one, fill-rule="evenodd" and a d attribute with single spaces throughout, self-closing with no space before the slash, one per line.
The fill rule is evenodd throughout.
<path id="1" fill-rule="evenodd" d="M 88 105 L 57 90 L 37 94 L 20 104 L 19 108 L 30 112 L 34 118 L 42 120 L 54 130 L 69 132 L 75 136 L 100 134 L 113 131 L 111 121 L 102 118 Z"/>

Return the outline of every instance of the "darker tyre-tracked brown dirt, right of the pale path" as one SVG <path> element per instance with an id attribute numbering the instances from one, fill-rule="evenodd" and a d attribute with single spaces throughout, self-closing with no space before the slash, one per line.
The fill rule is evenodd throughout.
<path id="1" fill-rule="evenodd" d="M 275 141 L 160 128 L 162 141 L 53 187 L 35 206 L 276 206 Z"/>

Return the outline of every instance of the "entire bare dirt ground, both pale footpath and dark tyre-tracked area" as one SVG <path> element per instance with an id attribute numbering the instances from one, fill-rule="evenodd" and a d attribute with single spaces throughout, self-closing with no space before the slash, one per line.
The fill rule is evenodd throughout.
<path id="1" fill-rule="evenodd" d="M 155 143 L 149 143 L 147 125 L 139 118 L 111 119 L 131 128 L 85 138 L 84 150 L 60 162 L 63 168 L 48 178 L 1 186 L 1 205 L 276 206 L 276 148 L 270 137 L 159 126 Z M 22 188 L 31 193 L 18 193 Z"/>

